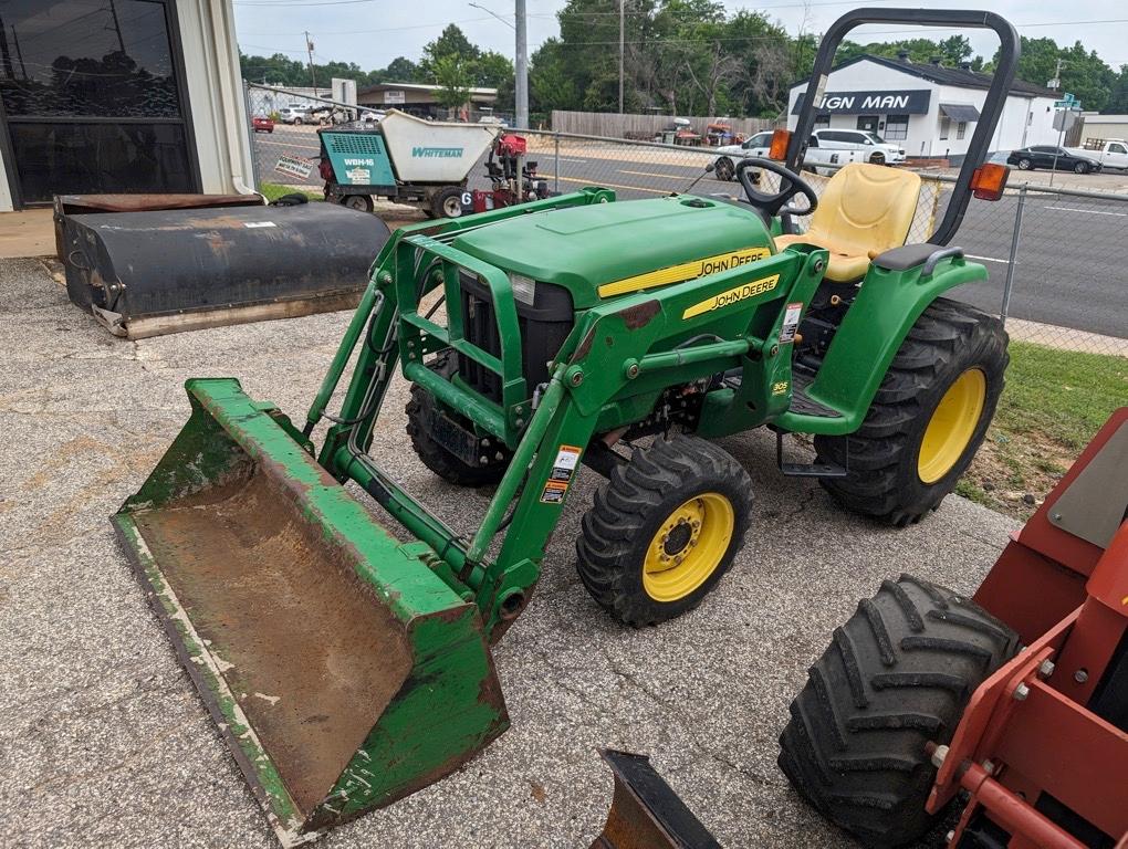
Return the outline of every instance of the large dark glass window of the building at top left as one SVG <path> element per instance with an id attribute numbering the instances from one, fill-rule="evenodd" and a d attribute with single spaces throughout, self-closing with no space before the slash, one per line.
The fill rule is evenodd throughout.
<path id="1" fill-rule="evenodd" d="M 196 188 L 168 0 L 0 0 L 0 10 L 2 130 L 20 204 Z"/>

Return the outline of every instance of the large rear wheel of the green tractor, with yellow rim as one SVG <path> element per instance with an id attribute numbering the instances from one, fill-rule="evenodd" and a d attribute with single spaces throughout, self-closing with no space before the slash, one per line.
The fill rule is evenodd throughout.
<path id="1" fill-rule="evenodd" d="M 821 458 L 849 469 L 821 479 L 823 488 L 845 507 L 898 527 L 936 510 L 987 435 L 1010 361 L 1006 342 L 997 318 L 933 301 L 857 432 L 814 437 Z"/>

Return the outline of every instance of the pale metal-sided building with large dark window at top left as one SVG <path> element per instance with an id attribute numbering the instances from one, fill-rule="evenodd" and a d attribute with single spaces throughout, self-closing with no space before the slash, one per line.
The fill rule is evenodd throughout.
<path id="1" fill-rule="evenodd" d="M 252 191 L 231 0 L 0 6 L 0 211 L 55 194 Z"/>

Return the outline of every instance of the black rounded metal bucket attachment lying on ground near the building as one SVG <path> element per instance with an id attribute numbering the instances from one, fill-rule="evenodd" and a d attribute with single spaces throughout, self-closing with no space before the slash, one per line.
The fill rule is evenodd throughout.
<path id="1" fill-rule="evenodd" d="M 390 237 L 336 204 L 61 215 L 67 293 L 131 339 L 352 309 Z"/>

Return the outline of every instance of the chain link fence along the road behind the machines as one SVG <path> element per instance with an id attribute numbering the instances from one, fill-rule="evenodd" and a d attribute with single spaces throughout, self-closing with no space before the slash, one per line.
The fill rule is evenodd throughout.
<path id="1" fill-rule="evenodd" d="M 250 116 L 268 116 L 266 95 L 274 90 L 248 86 Z M 258 188 L 275 197 L 291 191 L 321 195 L 317 131 L 331 122 L 373 126 L 362 120 L 365 107 L 324 101 L 318 113 L 300 123 L 275 121 L 270 132 L 253 134 Z M 354 121 L 349 121 L 354 118 Z M 291 120 L 292 121 L 292 120 Z M 693 189 L 696 194 L 742 193 L 735 180 L 706 173 L 722 153 L 716 148 L 690 148 L 622 139 L 522 131 L 528 160 L 555 192 L 583 186 L 615 189 L 619 200 L 660 197 Z M 728 154 L 734 161 L 739 154 Z M 467 177 L 470 188 L 488 188 L 482 161 Z M 1024 177 L 1015 171 L 1012 180 Z M 831 177 L 804 174 L 821 195 Z M 920 193 L 909 231 L 910 242 L 926 241 L 951 198 L 954 176 L 922 171 Z M 764 187 L 778 184 L 764 175 Z M 396 207 L 397 210 L 399 207 Z M 404 220 L 422 215 L 404 212 Z M 796 218 L 800 231 L 809 219 Z M 1128 233 L 1128 195 L 1084 192 L 1030 184 L 1012 185 L 997 202 L 972 200 L 955 244 L 982 263 L 990 280 L 962 286 L 953 295 L 1006 321 L 1012 339 L 1066 351 L 1128 357 L 1128 278 L 1119 247 Z"/>

